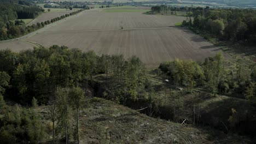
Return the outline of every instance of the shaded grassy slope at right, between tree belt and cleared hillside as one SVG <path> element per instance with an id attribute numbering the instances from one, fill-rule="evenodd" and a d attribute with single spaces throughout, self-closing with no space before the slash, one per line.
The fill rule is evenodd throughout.
<path id="1" fill-rule="evenodd" d="M 104 83 L 102 76 L 95 77 L 95 79 Z M 187 123 L 193 123 L 193 107 L 195 105 L 196 116 L 200 115 L 199 118 L 196 117 L 196 123 L 198 119 L 199 125 L 211 125 L 211 127 L 227 131 L 225 126 L 229 130 L 231 129 L 228 121 L 232 115 L 231 109 L 235 109 L 238 133 L 248 134 L 256 129 L 254 124 L 256 122 L 256 103 L 254 101 L 224 95 L 213 96 L 200 88 L 194 89 L 194 92 L 189 94 L 177 90 L 176 86 L 169 85 L 154 74 L 148 74 L 148 79 L 152 83 L 150 84 L 152 88 L 158 93 L 157 97 L 161 99 L 161 107 L 158 109 L 160 112 L 157 114 L 161 118 L 173 120 L 173 108 L 176 107 L 176 122 L 187 119 Z M 141 103 L 141 106 L 148 105 Z M 177 109 L 182 110 L 177 112 Z M 144 110 L 144 112 L 149 113 L 149 110 Z"/>

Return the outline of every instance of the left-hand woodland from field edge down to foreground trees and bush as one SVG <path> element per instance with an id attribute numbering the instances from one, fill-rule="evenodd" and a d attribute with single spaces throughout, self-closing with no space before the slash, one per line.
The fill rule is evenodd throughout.
<path id="1" fill-rule="evenodd" d="M 84 83 L 90 85 L 95 75 L 115 74 L 117 81 L 126 81 L 126 97 L 131 95 L 131 99 L 137 99 L 144 71 L 143 64 L 137 57 L 125 60 L 123 56 L 97 56 L 92 51 L 82 52 L 56 45 L 49 49 L 39 47 L 20 53 L 1 50 L 0 65 L 0 114 L 4 114 L 0 118 L 0 123 L 3 123 L 0 127 L 3 130 L 0 139 L 6 143 L 39 142 L 45 138 L 47 129 L 38 124 L 42 121 L 39 121 L 39 116 L 33 110 L 37 105 L 48 105 L 53 143 L 63 137 L 67 143 L 71 139 L 79 143 L 80 107 L 85 104 L 85 90 L 80 87 Z M 104 96 L 114 98 L 114 95 Z M 30 106 L 31 109 L 24 114 L 26 109 L 19 105 L 5 105 L 5 98 Z M 20 115 L 22 117 L 15 118 Z M 19 122 L 24 122 L 23 119 L 27 123 Z M 75 127 L 71 123 L 72 119 L 75 119 Z M 29 133 L 34 128 L 38 131 Z"/>

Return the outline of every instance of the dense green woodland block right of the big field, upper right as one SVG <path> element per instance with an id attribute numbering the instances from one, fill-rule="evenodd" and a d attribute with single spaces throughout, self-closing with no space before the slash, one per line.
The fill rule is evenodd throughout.
<path id="1" fill-rule="evenodd" d="M 198 10 L 192 27 L 210 37 L 231 43 L 255 44 L 256 11 L 253 9 Z"/>

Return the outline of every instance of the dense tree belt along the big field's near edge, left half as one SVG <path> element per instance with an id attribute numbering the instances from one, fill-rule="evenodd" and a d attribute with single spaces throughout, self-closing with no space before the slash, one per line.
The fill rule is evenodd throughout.
<path id="1" fill-rule="evenodd" d="M 26 50 L 20 53 L 0 51 L 0 71 L 10 76 L 8 98 L 23 105 L 31 105 L 32 97 L 47 104 L 49 95 L 58 87 L 80 86 L 93 80 L 94 75 L 106 74 L 126 81 L 127 94 L 137 97 L 137 88 L 144 77 L 143 63 L 137 57 L 125 60 L 124 56 L 97 56 L 94 52 L 51 46 Z M 48 96 L 47 96 L 48 95 Z"/>

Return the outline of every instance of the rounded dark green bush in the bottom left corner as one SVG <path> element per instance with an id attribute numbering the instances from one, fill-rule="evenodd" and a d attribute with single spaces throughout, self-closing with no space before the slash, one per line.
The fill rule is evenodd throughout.
<path id="1" fill-rule="evenodd" d="M 0 119 L 0 140 L 3 143 L 36 142 L 44 139 L 45 127 L 40 117 L 30 109 L 19 105 L 7 107 L 8 112 Z"/>

